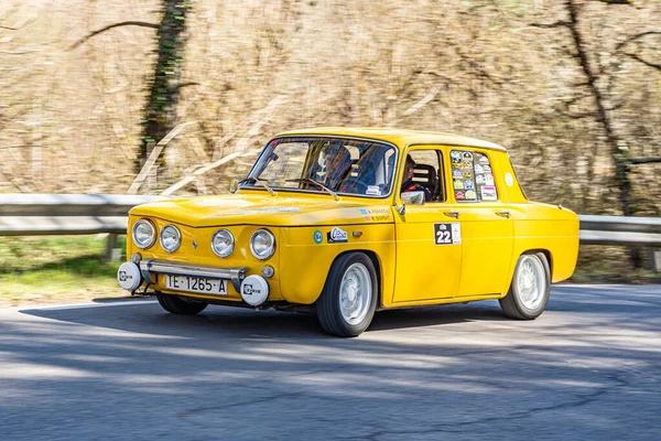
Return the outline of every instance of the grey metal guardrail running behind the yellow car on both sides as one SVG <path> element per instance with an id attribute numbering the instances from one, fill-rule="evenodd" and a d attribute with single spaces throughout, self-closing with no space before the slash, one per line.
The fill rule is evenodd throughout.
<path id="1" fill-rule="evenodd" d="M 83 235 L 127 232 L 133 206 L 165 198 L 123 194 L 0 194 L 0 236 Z M 661 218 L 581 215 L 586 245 L 661 246 Z"/>

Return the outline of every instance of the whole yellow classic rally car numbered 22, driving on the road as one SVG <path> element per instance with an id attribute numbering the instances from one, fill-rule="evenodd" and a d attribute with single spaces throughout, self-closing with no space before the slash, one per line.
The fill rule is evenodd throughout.
<path id="1" fill-rule="evenodd" d="M 308 310 L 356 336 L 375 311 L 499 299 L 539 316 L 578 218 L 529 202 L 507 151 L 447 133 L 318 128 L 269 141 L 234 193 L 131 209 L 118 280 L 174 314 Z"/>

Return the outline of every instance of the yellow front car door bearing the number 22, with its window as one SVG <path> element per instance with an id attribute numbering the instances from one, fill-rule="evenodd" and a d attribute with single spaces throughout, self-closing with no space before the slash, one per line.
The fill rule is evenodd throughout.
<path id="1" fill-rule="evenodd" d="M 444 215 L 448 211 L 443 153 L 438 147 L 419 147 L 409 152 L 416 161 L 419 182 L 432 190 L 432 201 L 407 205 L 395 216 L 397 270 L 393 303 L 424 302 L 454 297 L 459 282 L 462 236 L 458 222 Z M 405 155 L 401 159 L 403 169 Z M 435 183 L 429 182 L 434 170 Z M 425 181 L 425 174 L 427 181 Z M 399 187 L 402 185 L 400 172 Z M 401 201 L 398 201 L 401 206 Z"/>

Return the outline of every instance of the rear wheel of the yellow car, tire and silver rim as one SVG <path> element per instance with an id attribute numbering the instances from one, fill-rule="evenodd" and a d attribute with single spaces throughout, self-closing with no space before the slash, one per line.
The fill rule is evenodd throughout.
<path id="1" fill-rule="evenodd" d="M 542 252 L 522 255 L 507 295 L 498 301 L 508 318 L 533 320 L 546 309 L 550 292 L 551 271 L 546 256 Z"/>

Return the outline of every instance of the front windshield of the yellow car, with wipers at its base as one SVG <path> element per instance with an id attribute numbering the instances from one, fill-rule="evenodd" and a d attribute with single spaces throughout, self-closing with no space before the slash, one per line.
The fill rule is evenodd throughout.
<path id="1" fill-rule="evenodd" d="M 269 142 L 243 187 L 301 190 L 384 197 L 395 166 L 394 147 L 330 137 L 279 138 Z M 324 189 L 325 187 L 325 189 Z"/>

